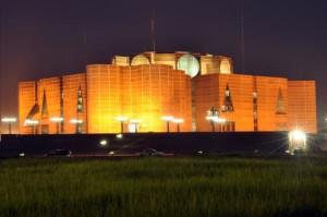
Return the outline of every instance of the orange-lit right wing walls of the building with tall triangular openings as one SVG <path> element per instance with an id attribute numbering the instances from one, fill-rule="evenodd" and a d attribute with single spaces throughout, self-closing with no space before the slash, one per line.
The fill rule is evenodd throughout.
<path id="1" fill-rule="evenodd" d="M 305 132 L 316 132 L 315 82 L 241 74 L 207 74 L 194 81 L 196 130 L 199 132 L 211 131 L 206 116 L 213 107 L 220 112 L 220 118 L 234 122 L 234 130 L 239 132 L 288 131 L 294 124 L 302 125 Z M 221 106 L 227 84 L 234 111 L 223 113 Z"/>

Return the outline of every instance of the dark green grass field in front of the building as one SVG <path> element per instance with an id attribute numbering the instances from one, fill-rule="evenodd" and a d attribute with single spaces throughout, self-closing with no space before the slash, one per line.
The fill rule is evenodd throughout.
<path id="1" fill-rule="evenodd" d="M 327 216 L 319 158 L 17 158 L 0 216 Z"/>

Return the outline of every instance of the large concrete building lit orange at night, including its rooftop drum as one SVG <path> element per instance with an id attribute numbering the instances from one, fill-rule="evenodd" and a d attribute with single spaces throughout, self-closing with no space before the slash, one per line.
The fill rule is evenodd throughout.
<path id="1" fill-rule="evenodd" d="M 22 134 L 317 131 L 314 81 L 234 74 L 230 58 L 190 52 L 116 56 L 20 82 L 19 105 Z"/>

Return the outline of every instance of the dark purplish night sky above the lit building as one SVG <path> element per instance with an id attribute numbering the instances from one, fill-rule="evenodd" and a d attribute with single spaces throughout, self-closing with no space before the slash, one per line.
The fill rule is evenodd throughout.
<path id="1" fill-rule="evenodd" d="M 0 0 L 1 116 L 17 117 L 17 83 L 85 72 L 152 48 L 231 57 L 242 73 L 242 0 Z M 327 1 L 243 0 L 245 73 L 315 80 L 327 117 Z M 86 44 L 84 44 L 86 33 Z M 86 50 L 86 52 L 85 52 Z"/>

